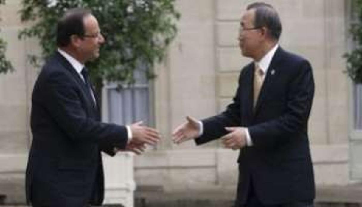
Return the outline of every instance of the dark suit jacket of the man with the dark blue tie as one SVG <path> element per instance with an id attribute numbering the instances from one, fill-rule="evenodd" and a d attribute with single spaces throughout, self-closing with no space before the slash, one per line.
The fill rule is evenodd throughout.
<path id="1" fill-rule="evenodd" d="M 33 142 L 26 169 L 26 198 L 35 205 L 101 204 L 101 150 L 124 149 L 127 130 L 100 122 L 97 104 L 71 64 L 58 52 L 35 83 L 31 107 Z"/>

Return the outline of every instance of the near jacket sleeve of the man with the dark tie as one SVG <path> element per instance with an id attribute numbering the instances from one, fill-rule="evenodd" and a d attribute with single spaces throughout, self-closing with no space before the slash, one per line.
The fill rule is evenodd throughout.
<path id="1" fill-rule="evenodd" d="M 126 147 L 126 128 L 88 117 L 81 103 L 80 92 L 67 74 L 54 72 L 43 84 L 45 107 L 72 141 L 96 142 L 106 152 L 113 147 Z"/>

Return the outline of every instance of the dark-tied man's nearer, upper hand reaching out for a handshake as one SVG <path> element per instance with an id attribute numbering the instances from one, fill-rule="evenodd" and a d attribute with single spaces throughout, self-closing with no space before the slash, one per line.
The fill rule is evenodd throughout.
<path id="1" fill-rule="evenodd" d="M 160 134 L 156 129 L 146 127 L 142 121 L 132 124 L 132 142 L 136 144 L 156 145 L 160 140 Z"/>

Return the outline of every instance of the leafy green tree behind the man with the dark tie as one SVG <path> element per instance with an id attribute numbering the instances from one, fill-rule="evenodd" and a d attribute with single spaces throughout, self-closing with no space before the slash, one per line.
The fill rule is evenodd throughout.
<path id="1" fill-rule="evenodd" d="M 133 83 L 133 71 L 146 65 L 143 72 L 154 78 L 153 65 L 162 61 L 167 46 L 176 35 L 175 21 L 180 14 L 175 0 L 22 0 L 23 22 L 34 24 L 19 33 L 19 38 L 36 37 L 42 47 L 41 57 L 32 56 L 39 64 L 56 49 L 56 24 L 64 11 L 74 7 L 92 10 L 106 42 L 100 58 L 87 63 L 90 78 L 98 90 L 103 80 Z M 97 90 L 97 91 L 98 91 Z"/>

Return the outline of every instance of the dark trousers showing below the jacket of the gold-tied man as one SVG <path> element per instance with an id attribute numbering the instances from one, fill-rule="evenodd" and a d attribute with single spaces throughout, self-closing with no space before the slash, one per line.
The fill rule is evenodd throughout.
<path id="1" fill-rule="evenodd" d="M 250 189 L 249 189 L 247 203 L 240 207 L 314 207 L 313 201 L 296 201 L 284 204 L 265 205 L 256 196 L 253 182 L 250 182 L 249 186 Z"/>

